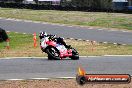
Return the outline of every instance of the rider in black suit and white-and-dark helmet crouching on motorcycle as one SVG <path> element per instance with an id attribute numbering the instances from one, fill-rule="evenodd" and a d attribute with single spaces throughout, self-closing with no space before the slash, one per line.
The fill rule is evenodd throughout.
<path id="1" fill-rule="evenodd" d="M 71 47 L 70 45 L 66 45 L 66 43 L 64 42 L 64 39 L 61 37 L 57 37 L 56 35 L 51 35 L 51 34 L 49 35 L 43 31 L 40 32 L 39 33 L 40 40 L 42 40 L 44 37 L 48 37 L 49 40 L 56 41 L 58 44 L 63 44 L 67 49 L 69 49 Z"/>

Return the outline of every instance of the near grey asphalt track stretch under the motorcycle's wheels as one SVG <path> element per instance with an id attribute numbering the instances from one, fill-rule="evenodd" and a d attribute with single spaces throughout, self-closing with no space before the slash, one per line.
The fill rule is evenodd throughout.
<path id="1" fill-rule="evenodd" d="M 0 59 L 0 80 L 32 79 L 45 77 L 75 77 L 78 67 L 88 74 L 130 74 L 132 56 L 83 57 L 80 60 L 56 60 L 47 58 Z"/>

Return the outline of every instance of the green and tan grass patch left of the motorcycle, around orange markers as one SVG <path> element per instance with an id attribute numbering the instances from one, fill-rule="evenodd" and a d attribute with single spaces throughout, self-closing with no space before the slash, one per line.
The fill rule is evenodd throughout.
<path id="1" fill-rule="evenodd" d="M 33 46 L 33 35 L 10 32 L 10 49 L 6 48 L 6 42 L 0 44 L 0 57 L 17 57 L 17 56 L 42 56 L 39 47 Z M 37 37 L 38 39 L 38 37 Z M 39 40 L 37 40 L 38 42 Z M 39 42 L 38 42 L 39 44 Z"/>

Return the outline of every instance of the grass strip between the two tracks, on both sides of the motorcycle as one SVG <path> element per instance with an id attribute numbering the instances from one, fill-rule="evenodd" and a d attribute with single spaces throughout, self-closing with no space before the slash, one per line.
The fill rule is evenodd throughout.
<path id="1" fill-rule="evenodd" d="M 0 43 L 0 57 L 33 57 L 47 56 L 39 47 L 37 36 L 37 47 L 33 47 L 33 35 L 10 32 L 10 49 L 6 49 L 6 43 Z M 86 41 L 67 40 L 66 43 L 76 48 L 81 56 L 100 55 L 132 55 L 132 45 L 113 45 Z"/>

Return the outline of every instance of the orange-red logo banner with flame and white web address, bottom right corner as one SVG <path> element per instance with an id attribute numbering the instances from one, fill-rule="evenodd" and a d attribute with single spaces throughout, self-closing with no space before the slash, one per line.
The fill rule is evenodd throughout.
<path id="1" fill-rule="evenodd" d="M 130 83 L 131 76 L 129 74 L 86 74 L 85 70 L 79 67 L 76 81 L 80 85 L 86 83 Z"/>

